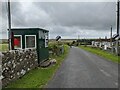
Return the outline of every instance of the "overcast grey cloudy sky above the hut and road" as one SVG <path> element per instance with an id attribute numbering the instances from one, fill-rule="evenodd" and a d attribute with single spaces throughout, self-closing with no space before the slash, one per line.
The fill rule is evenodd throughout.
<path id="1" fill-rule="evenodd" d="M 50 38 L 110 37 L 116 33 L 116 2 L 12 2 L 12 27 L 39 27 Z M 7 3 L 2 2 L 0 36 L 7 38 Z M 0 37 L 1 38 L 1 37 Z"/>

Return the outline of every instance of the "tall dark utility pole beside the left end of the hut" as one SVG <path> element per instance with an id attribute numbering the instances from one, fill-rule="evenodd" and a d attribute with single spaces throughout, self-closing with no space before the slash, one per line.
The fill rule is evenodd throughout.
<path id="1" fill-rule="evenodd" d="M 9 50 L 11 50 L 11 11 L 10 11 L 10 0 L 8 0 L 8 41 L 9 41 Z"/>

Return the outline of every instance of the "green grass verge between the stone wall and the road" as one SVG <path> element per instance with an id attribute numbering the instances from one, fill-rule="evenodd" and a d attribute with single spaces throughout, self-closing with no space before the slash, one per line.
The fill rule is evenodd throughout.
<path id="1" fill-rule="evenodd" d="M 10 83 L 6 88 L 43 88 L 48 81 L 53 77 L 56 70 L 59 68 L 62 61 L 68 54 L 69 48 L 64 45 L 65 52 L 60 56 L 54 56 L 57 63 L 48 68 L 36 68 L 26 73 L 21 79 L 18 79 Z"/>

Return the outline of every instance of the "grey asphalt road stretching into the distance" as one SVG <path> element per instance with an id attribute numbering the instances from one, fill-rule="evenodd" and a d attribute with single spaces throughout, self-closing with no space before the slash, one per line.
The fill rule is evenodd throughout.
<path id="1" fill-rule="evenodd" d="M 73 47 L 45 88 L 117 88 L 118 64 Z"/>

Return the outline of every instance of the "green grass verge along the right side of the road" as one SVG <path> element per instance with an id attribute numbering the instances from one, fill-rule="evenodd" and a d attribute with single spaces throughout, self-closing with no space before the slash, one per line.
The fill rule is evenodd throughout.
<path id="1" fill-rule="evenodd" d="M 89 51 L 91 53 L 94 53 L 96 55 L 99 55 L 99 56 L 102 56 L 104 58 L 106 58 L 107 60 L 111 60 L 113 62 L 116 62 L 116 63 L 120 63 L 120 60 L 118 58 L 120 58 L 120 56 L 116 56 L 112 53 L 109 53 L 107 51 L 104 51 L 104 50 L 100 50 L 99 48 L 92 48 L 92 47 L 89 47 L 89 46 L 79 46 L 80 48 L 86 50 L 86 51 Z"/>

